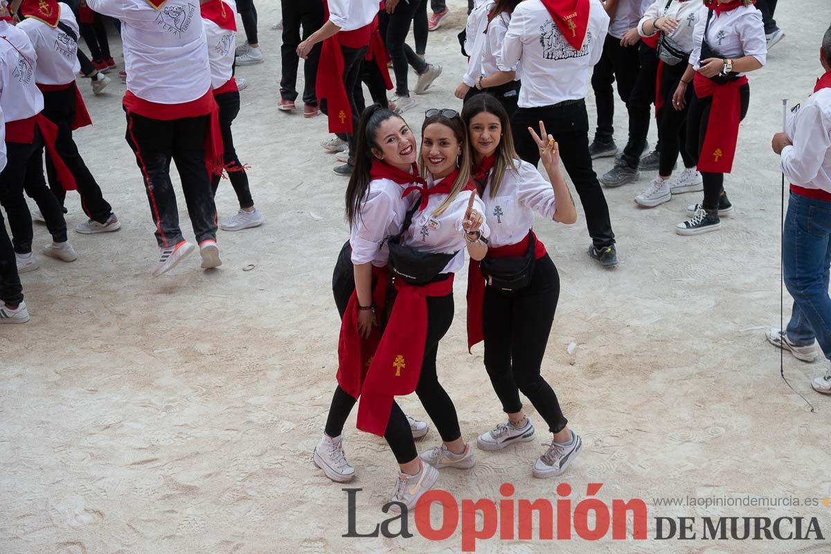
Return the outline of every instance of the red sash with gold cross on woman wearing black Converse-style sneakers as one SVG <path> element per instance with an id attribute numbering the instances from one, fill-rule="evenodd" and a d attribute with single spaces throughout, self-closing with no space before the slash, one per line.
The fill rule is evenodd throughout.
<path id="1" fill-rule="evenodd" d="M 747 77 L 741 76 L 723 85 L 716 85 L 701 75 L 701 72 L 696 71 L 696 77 L 692 82 L 696 87 L 696 96 L 713 97 L 704 144 L 701 145 L 701 155 L 698 158 L 698 170 L 707 173 L 730 173 L 733 169 L 741 121 L 739 89 L 747 84 Z"/>

